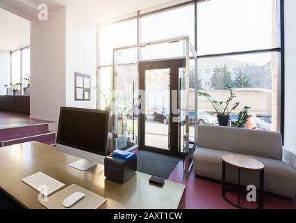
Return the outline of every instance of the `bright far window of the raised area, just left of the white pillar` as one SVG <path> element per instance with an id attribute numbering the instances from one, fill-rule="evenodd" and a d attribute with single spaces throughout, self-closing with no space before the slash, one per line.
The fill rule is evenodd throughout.
<path id="1" fill-rule="evenodd" d="M 10 66 L 10 83 L 22 83 L 22 89 L 27 87 L 30 78 L 30 47 L 11 52 Z"/>

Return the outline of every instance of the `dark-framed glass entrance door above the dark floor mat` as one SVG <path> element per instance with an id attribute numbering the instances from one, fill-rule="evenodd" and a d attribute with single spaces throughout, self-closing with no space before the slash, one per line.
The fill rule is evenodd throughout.
<path id="1" fill-rule="evenodd" d="M 179 68 L 183 59 L 139 64 L 139 148 L 167 155 L 180 155 Z"/>

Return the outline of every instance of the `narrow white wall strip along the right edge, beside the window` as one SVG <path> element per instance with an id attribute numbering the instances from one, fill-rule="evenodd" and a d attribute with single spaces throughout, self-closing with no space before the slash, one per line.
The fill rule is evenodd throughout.
<path id="1" fill-rule="evenodd" d="M 296 153 L 296 1 L 285 1 L 285 146 Z"/>

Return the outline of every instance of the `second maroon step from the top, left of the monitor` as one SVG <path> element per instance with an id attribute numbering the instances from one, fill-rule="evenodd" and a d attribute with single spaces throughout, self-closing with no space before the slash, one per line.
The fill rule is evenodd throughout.
<path id="1" fill-rule="evenodd" d="M 0 139 L 0 147 L 21 144 L 28 141 L 46 142 L 56 139 L 56 132 L 46 132 L 42 134 L 23 134 L 13 139 Z"/>

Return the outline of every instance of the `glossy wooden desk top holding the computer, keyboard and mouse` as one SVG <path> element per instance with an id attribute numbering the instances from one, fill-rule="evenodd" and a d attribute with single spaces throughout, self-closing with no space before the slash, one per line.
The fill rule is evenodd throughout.
<path id="1" fill-rule="evenodd" d="M 149 185 L 151 176 L 137 172 L 120 184 L 104 176 L 104 166 L 79 171 L 68 164 L 77 157 L 57 152 L 38 142 L 0 148 L 0 189 L 24 208 L 44 209 L 38 192 L 22 183 L 22 178 L 42 171 L 66 186 L 76 184 L 106 197 L 100 208 L 108 209 L 175 209 L 185 208 L 185 185 L 165 181 L 163 188 Z"/>

